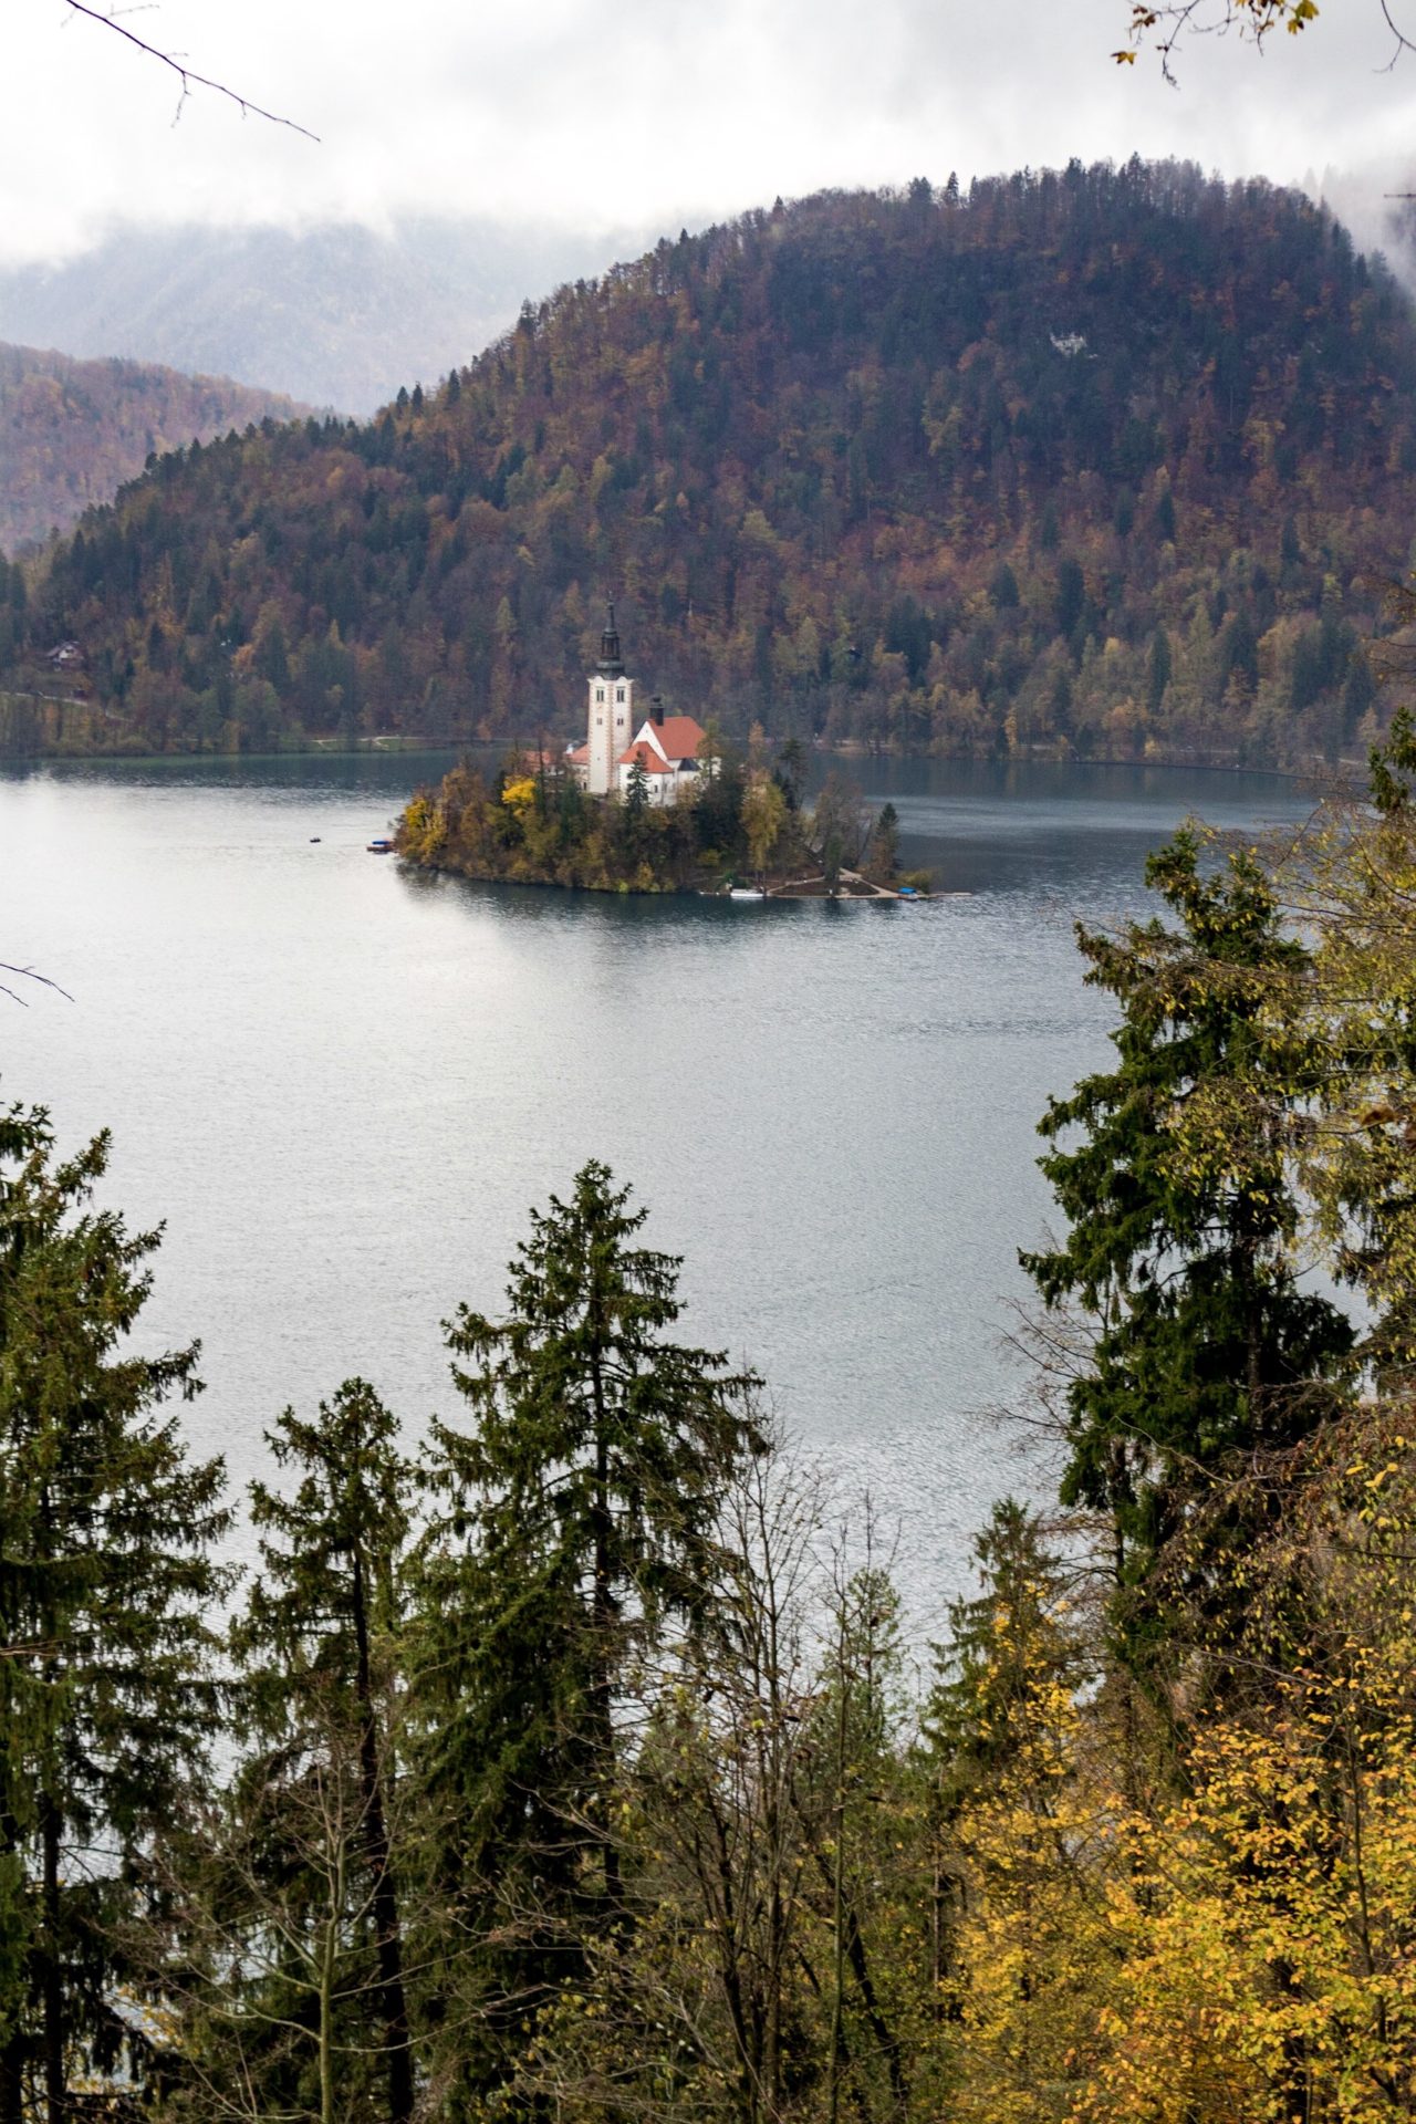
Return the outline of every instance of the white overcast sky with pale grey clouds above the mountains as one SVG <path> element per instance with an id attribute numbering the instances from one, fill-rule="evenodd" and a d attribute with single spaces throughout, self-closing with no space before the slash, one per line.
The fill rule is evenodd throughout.
<path id="1" fill-rule="evenodd" d="M 102 0 L 100 0 L 102 4 Z M 121 0 L 119 0 L 121 4 Z M 1416 0 L 1399 0 L 1416 17 Z M 1325 0 L 1263 57 L 1191 42 L 1180 89 L 1119 68 L 1125 0 L 159 0 L 123 21 L 321 144 L 176 85 L 62 0 L 8 0 L 0 257 L 115 221 L 575 229 L 703 223 L 822 185 L 1189 155 L 1240 176 L 1416 174 L 1416 55 Z"/>

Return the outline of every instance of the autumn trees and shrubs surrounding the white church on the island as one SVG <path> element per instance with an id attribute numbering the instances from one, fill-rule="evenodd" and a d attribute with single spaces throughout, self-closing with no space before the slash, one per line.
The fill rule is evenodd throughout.
<path id="1" fill-rule="evenodd" d="M 705 733 L 692 801 L 654 805 L 647 775 L 586 794 L 565 756 L 512 750 L 495 775 L 463 760 L 405 805 L 395 847 L 425 871 L 590 892 L 715 892 L 743 884 L 792 896 L 928 892 L 928 871 L 900 873 L 892 803 L 870 813 L 839 773 L 805 805 L 805 752 L 769 756 L 754 729 L 745 748 Z"/>

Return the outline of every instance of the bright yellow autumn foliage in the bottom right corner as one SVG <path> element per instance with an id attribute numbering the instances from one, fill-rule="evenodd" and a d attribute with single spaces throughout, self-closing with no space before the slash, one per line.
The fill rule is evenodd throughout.
<path id="1" fill-rule="evenodd" d="M 1129 1820 L 1129 1867 L 1108 1886 L 1119 1994 L 1076 2124 L 1274 2124 L 1295 2050 L 1310 2113 L 1367 2124 L 1380 2082 L 1405 2075 L 1410 1712 L 1393 1716 L 1380 1663 L 1346 1650 L 1346 1676 L 1280 1691 L 1287 1714 L 1212 1727 L 1191 1797 Z"/>

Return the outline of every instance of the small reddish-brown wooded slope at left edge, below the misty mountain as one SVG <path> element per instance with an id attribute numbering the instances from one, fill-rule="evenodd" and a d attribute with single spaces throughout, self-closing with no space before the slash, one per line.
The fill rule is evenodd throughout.
<path id="1" fill-rule="evenodd" d="M 229 376 L 0 344 L 0 552 L 113 501 L 153 452 L 308 408 Z"/>

